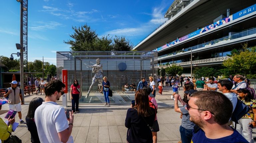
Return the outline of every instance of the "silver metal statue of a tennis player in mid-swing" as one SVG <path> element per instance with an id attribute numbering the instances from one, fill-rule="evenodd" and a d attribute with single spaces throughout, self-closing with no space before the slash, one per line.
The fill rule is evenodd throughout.
<path id="1" fill-rule="evenodd" d="M 92 67 L 92 73 L 95 73 L 95 75 L 92 78 L 92 84 L 91 84 L 91 86 L 89 88 L 89 91 L 88 91 L 85 98 L 88 98 L 88 96 L 91 92 L 91 89 L 94 86 L 94 84 L 96 83 L 96 81 L 99 82 L 98 88 L 101 89 L 101 87 L 102 87 L 102 77 L 103 77 L 102 72 L 103 72 L 103 70 L 102 70 L 102 64 L 100 64 L 100 59 L 97 58 L 96 59 L 96 64 L 93 65 L 93 66 L 89 66 L 89 67 Z"/>

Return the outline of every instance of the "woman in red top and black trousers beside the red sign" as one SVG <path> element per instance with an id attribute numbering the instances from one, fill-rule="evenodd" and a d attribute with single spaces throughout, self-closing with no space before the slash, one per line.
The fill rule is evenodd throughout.
<path id="1" fill-rule="evenodd" d="M 80 112 L 78 110 L 79 98 L 81 98 L 80 94 L 80 85 L 78 84 L 77 79 L 74 80 L 74 84 L 71 85 L 70 95 L 72 101 L 72 111 L 75 114 L 76 112 Z"/>

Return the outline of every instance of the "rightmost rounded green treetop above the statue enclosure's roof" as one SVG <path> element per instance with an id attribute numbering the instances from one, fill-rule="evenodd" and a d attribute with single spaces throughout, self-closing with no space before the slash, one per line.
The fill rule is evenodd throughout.
<path id="1" fill-rule="evenodd" d="M 113 45 L 113 51 L 130 51 L 133 44 L 125 36 L 115 36 Z"/>

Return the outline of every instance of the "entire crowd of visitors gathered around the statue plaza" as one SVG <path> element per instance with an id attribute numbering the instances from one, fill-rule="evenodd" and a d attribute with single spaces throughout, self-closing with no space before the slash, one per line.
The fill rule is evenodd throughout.
<path id="1" fill-rule="evenodd" d="M 252 128 L 256 127 L 256 100 L 248 90 L 248 80 L 242 75 L 230 76 L 227 80 L 217 81 L 214 77 L 194 78 L 167 77 L 167 87 L 173 89 L 174 110 L 181 113 L 180 136 L 182 143 L 204 142 L 252 142 Z M 161 78 L 160 78 L 161 79 Z M 110 106 L 110 83 L 103 77 L 101 92 L 104 93 L 105 106 Z M 166 81 L 166 79 L 164 80 Z M 192 82 L 190 82 L 192 81 Z M 42 81 L 43 82 L 43 81 Z M 41 83 L 42 83 L 41 82 Z M 184 82 L 183 99 L 178 94 L 178 88 Z M 74 113 L 79 111 L 80 86 L 75 79 L 71 85 L 72 111 L 66 113 L 56 101 L 64 94 L 65 85 L 59 80 L 51 80 L 44 85 L 45 100 L 35 97 L 31 100 L 26 116 L 26 123 L 21 119 L 21 105 L 24 101 L 17 82 L 12 81 L 11 87 L 6 90 L 4 97 L 7 99 L 9 109 L 18 112 L 21 124 L 27 124 L 31 133 L 31 142 L 73 142 L 71 135 Z M 163 82 L 158 82 L 158 88 L 163 87 Z M 129 89 L 126 83 L 127 89 Z M 127 142 L 129 143 L 156 143 L 157 132 L 160 130 L 157 118 L 158 104 L 155 100 L 156 84 L 152 76 L 149 83 L 141 78 L 135 88 L 135 104 L 127 110 L 125 126 L 127 129 Z M 217 89 L 219 90 L 217 92 Z M 130 89 L 129 89 L 130 90 Z M 162 88 L 159 88 L 162 95 Z M 17 100 L 18 99 L 18 100 Z M 232 125 L 231 116 L 238 101 L 247 105 L 250 110 L 238 120 L 236 129 Z M 182 107 L 178 106 L 178 101 Z M 0 109 L 2 103 L 0 104 Z M 67 116 L 68 115 L 68 116 Z M 15 118 L 8 118 L 8 125 L 0 118 L 0 135 L 2 141 L 8 140 Z M 4 123 L 4 124 L 3 124 Z M 235 123 L 233 123 L 235 124 Z"/>

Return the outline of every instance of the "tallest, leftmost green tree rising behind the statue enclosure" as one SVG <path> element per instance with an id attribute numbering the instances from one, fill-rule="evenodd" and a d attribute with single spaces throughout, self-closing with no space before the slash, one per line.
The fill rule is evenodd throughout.
<path id="1" fill-rule="evenodd" d="M 92 30 L 90 26 L 73 27 L 74 33 L 69 35 L 74 40 L 64 41 L 64 43 L 71 45 L 71 51 L 97 51 L 94 47 L 94 42 L 97 40 L 98 35 L 96 31 Z"/>

